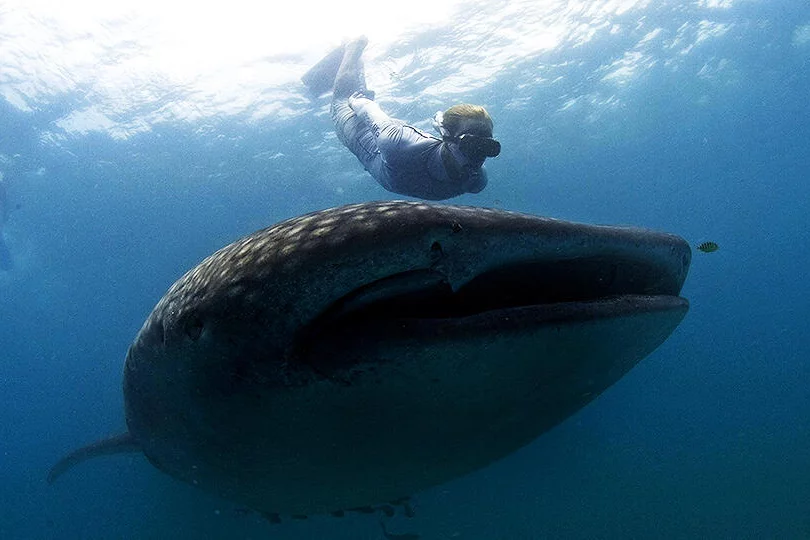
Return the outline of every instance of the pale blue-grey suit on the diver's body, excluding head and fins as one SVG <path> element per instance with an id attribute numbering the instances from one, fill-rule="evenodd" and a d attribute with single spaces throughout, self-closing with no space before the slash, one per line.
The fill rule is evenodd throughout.
<path id="1" fill-rule="evenodd" d="M 359 55 L 352 64 L 348 69 L 342 65 L 335 81 L 332 121 L 340 142 L 382 187 L 434 201 L 486 187 L 481 163 L 471 163 L 454 145 L 385 114 L 367 97 Z M 362 95 L 352 95 L 357 92 Z"/>

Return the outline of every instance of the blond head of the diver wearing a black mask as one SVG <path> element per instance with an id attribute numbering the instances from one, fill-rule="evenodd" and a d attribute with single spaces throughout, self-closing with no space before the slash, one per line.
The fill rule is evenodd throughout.
<path id="1" fill-rule="evenodd" d="M 501 144 L 492 138 L 492 117 L 480 105 L 453 105 L 437 112 L 433 122 L 442 140 L 457 144 L 471 161 L 483 163 L 501 153 Z"/>

